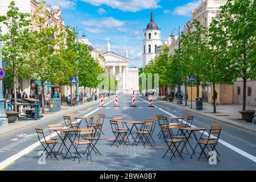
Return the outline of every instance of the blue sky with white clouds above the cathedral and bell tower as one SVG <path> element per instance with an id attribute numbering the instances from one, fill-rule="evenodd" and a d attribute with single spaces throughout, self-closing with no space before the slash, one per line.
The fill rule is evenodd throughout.
<path id="1" fill-rule="evenodd" d="M 131 67 L 142 66 L 143 28 L 150 22 L 151 7 L 154 19 L 166 41 L 172 30 L 184 28 L 191 20 L 191 11 L 202 0 L 46 0 L 48 5 L 61 6 L 66 26 L 78 27 L 97 50 L 106 51 L 109 36 L 113 52 L 132 60 Z M 82 31 L 80 31 L 80 36 Z"/>

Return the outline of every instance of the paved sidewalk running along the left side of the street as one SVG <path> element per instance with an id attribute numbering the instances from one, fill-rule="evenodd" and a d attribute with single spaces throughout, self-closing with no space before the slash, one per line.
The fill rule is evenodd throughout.
<path id="1" fill-rule="evenodd" d="M 112 98 L 113 96 L 110 96 L 110 98 L 106 98 L 105 101 L 110 101 Z M 0 126 L 0 136 L 16 130 L 24 129 L 28 126 L 32 126 L 38 123 L 48 121 L 48 119 L 52 119 L 59 115 L 64 115 L 68 113 L 70 114 L 72 113 L 72 111 L 79 110 L 81 109 L 81 107 L 84 107 L 84 106 L 90 106 L 90 105 L 96 104 L 97 102 L 98 102 L 98 105 L 100 106 L 100 100 L 85 102 L 85 104 L 81 104 L 79 106 L 73 106 L 73 107 L 70 107 L 68 105 L 62 105 L 61 111 L 57 111 L 56 113 L 49 113 L 48 107 L 45 107 L 46 111 L 43 114 L 44 117 L 39 120 L 22 120 L 22 121 L 16 121 L 15 123 L 8 123 L 8 126 Z"/>

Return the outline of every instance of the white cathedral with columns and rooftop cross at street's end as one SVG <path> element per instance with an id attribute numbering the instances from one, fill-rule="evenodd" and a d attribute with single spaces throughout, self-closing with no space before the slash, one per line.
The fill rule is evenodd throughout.
<path id="1" fill-rule="evenodd" d="M 108 52 L 104 53 L 105 69 L 108 75 L 115 75 L 118 80 L 118 91 L 123 93 L 133 93 L 139 90 L 139 69 L 129 68 L 130 59 L 128 51 L 124 51 L 125 55 L 118 55 L 111 51 L 109 38 Z"/>

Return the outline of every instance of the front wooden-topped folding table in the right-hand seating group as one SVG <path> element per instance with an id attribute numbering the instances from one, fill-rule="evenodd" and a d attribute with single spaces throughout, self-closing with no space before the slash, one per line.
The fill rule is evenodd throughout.
<path id="1" fill-rule="evenodd" d="M 182 128 L 180 128 L 180 130 L 181 130 L 181 133 L 182 133 L 184 136 L 185 136 L 184 130 L 188 132 L 188 137 L 185 137 L 186 140 L 185 140 L 185 142 L 184 142 L 184 144 L 183 144 L 183 146 L 182 146 L 182 148 L 181 148 L 181 152 L 184 150 L 185 145 L 188 143 L 189 146 L 191 147 L 192 151 L 193 151 L 192 155 L 195 154 L 196 147 L 197 147 L 197 144 L 198 144 L 197 141 L 199 140 L 199 139 L 197 138 L 197 136 L 196 136 L 195 131 L 203 131 L 202 134 L 201 134 L 201 136 L 199 137 L 199 138 L 201 138 L 201 137 L 203 136 L 203 134 L 204 134 L 204 131 L 207 130 L 207 129 L 204 129 L 204 128 L 201 128 L 201 127 L 182 127 Z M 193 134 L 193 136 L 195 137 L 196 143 L 197 143 L 197 144 L 196 144 L 196 147 L 195 147 L 194 149 L 192 148 L 191 143 L 189 143 L 189 138 L 191 138 L 191 134 Z M 191 158 L 192 158 L 192 155 L 191 155 Z M 195 154 L 195 155 L 196 155 L 196 154 Z"/>

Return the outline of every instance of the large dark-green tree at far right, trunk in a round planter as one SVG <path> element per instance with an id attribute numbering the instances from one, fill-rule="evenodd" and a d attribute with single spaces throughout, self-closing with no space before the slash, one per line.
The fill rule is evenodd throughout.
<path id="1" fill-rule="evenodd" d="M 211 32 L 217 44 L 224 46 L 228 58 L 229 69 L 233 72 L 233 80 L 243 80 L 243 105 L 246 109 L 246 81 L 256 78 L 255 60 L 255 1 L 228 0 L 221 6 L 220 20 L 213 20 Z"/>

